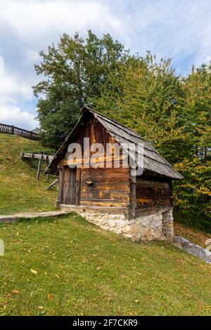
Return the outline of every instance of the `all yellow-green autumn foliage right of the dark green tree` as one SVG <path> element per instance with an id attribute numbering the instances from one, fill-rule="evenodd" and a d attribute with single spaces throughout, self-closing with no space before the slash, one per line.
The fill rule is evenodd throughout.
<path id="1" fill-rule="evenodd" d="M 148 53 L 121 64 L 94 106 L 134 129 L 184 176 L 174 181 L 175 218 L 211 232 L 211 74 L 179 77 L 171 60 Z"/>

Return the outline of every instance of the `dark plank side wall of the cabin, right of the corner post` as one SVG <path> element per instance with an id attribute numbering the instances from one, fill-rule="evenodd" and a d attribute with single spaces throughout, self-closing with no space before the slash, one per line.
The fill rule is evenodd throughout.
<path id="1" fill-rule="evenodd" d="M 172 206 L 172 180 L 145 174 L 136 177 L 136 209 Z"/>

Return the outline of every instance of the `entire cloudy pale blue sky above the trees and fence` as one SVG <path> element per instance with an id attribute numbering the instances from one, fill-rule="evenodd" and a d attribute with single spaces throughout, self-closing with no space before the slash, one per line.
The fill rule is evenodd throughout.
<path id="1" fill-rule="evenodd" d="M 210 0 L 0 0 L 0 123 L 39 125 L 39 51 L 87 29 L 110 33 L 133 53 L 171 57 L 177 73 L 211 60 Z"/>

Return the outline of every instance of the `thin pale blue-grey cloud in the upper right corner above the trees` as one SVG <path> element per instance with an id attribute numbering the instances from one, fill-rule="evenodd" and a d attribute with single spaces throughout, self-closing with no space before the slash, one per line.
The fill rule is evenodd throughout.
<path id="1" fill-rule="evenodd" d="M 135 6 L 136 4 L 136 6 Z M 150 50 L 175 62 L 200 65 L 210 55 L 210 0 L 134 1 L 129 36 L 141 55 Z"/>

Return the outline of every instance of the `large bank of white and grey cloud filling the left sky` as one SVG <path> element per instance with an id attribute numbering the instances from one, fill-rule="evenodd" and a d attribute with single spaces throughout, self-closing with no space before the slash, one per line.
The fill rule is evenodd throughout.
<path id="1" fill-rule="evenodd" d="M 5 72 L 0 74 L 0 121 L 21 127 L 34 126 L 34 116 L 21 111 L 20 104 L 34 101 L 31 86 L 40 77 L 33 65 L 42 48 L 56 43 L 64 32 L 124 31 L 118 15 L 98 0 L 0 0 L 0 25 L 0 55 L 5 60 Z"/>

